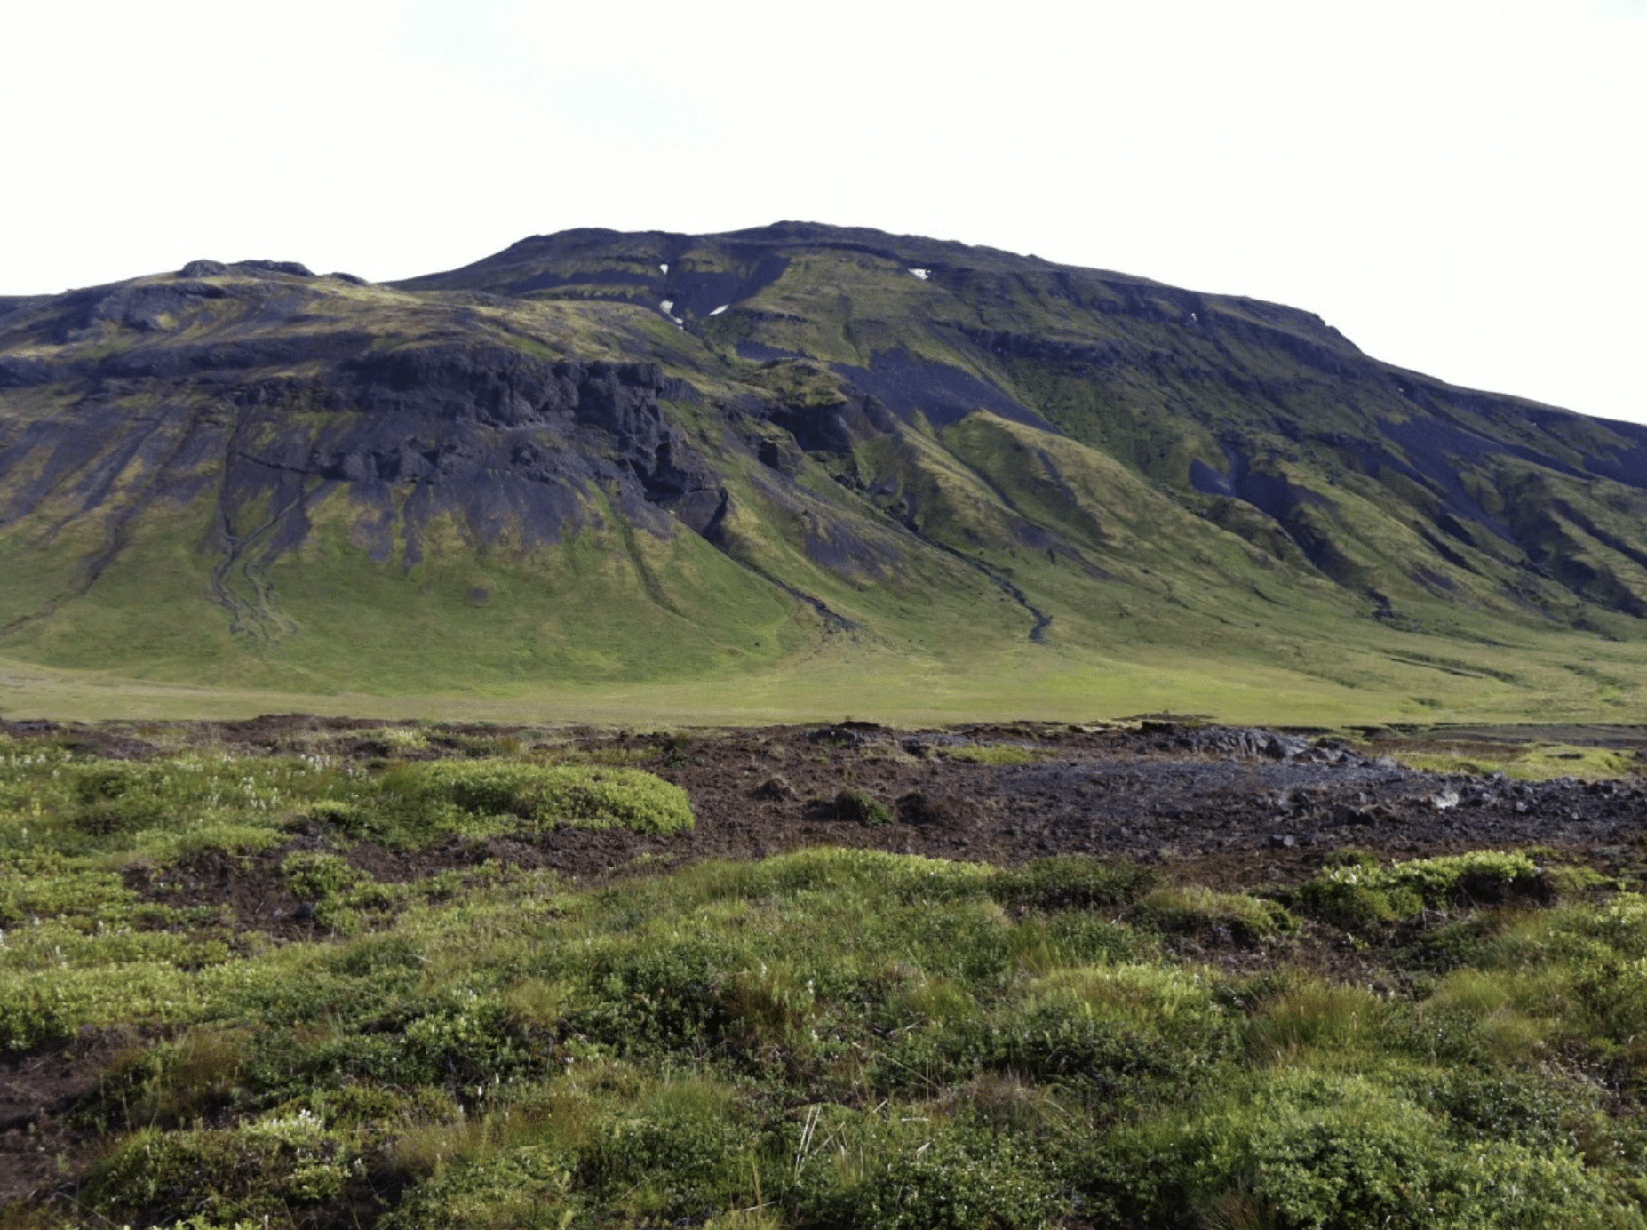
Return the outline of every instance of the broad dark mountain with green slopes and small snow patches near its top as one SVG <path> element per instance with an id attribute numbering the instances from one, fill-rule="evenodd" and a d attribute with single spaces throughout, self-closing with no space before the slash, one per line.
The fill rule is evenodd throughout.
<path id="1" fill-rule="evenodd" d="M 0 655 L 51 668 L 1626 716 L 1644 514 L 1644 427 L 868 229 L 0 298 Z"/>

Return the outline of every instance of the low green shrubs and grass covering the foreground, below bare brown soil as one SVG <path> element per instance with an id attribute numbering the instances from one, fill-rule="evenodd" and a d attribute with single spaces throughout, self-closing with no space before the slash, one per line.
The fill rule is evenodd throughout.
<path id="1" fill-rule="evenodd" d="M 585 885 L 432 852 L 685 795 L 380 742 L 0 744 L 8 1083 L 99 1068 L 0 1227 L 1647 1225 L 1632 884 L 814 849 Z M 296 908 L 201 889 L 254 866 Z"/>

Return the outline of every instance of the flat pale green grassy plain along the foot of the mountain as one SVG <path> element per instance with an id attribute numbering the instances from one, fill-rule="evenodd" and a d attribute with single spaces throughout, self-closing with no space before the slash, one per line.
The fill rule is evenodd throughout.
<path id="1" fill-rule="evenodd" d="M 1179 712 L 1323 727 L 1647 724 L 1647 646 L 1586 633 L 1528 635 L 1512 646 L 1369 625 L 1365 638 L 1354 643 L 1316 640 L 1295 627 L 1255 633 L 1230 648 L 1240 651 L 1140 640 L 1105 653 L 1021 640 L 952 656 L 931 643 L 899 646 L 819 633 L 810 648 L 802 645 L 776 663 L 723 664 L 700 679 L 557 683 L 534 673 L 537 678 L 509 681 L 502 671 L 464 676 L 436 663 L 422 686 L 387 679 L 369 688 L 344 674 L 336 691 L 321 691 L 315 679 L 324 676 L 310 671 L 295 676 L 295 686 L 280 688 L 280 671 L 268 666 L 257 678 L 272 686 L 211 688 L 0 656 L 0 716 L 97 721 L 316 712 L 596 725 L 759 725 L 851 716 L 921 725 Z"/>

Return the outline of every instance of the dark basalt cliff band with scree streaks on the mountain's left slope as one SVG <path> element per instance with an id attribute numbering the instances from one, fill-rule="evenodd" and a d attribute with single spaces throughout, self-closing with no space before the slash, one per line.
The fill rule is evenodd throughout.
<path id="1" fill-rule="evenodd" d="M 305 359 L 320 369 L 264 374 Z M 417 562 L 436 514 L 481 544 L 504 533 L 547 544 L 588 521 L 595 490 L 609 490 L 637 526 L 665 533 L 672 501 L 716 488 L 660 407 L 692 389 L 654 363 L 552 363 L 473 341 L 374 353 L 367 338 L 343 333 L 315 346 L 275 338 L 114 356 L 82 379 L 71 407 L 8 424 L 7 524 L 53 496 L 74 500 L 74 516 L 117 500 L 135 514 L 145 501 L 188 503 L 211 490 L 222 524 L 267 509 L 260 534 L 290 551 L 306 538 L 306 509 L 341 493 L 357 524 L 372 526 L 372 559 L 390 559 L 400 541 L 405 562 Z M 133 468 L 140 493 L 120 483 Z"/>

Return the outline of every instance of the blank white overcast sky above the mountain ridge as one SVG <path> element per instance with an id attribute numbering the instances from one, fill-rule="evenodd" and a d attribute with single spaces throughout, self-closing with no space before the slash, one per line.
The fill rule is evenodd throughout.
<path id="1" fill-rule="evenodd" d="M 794 218 L 1278 300 L 1647 422 L 1647 0 L 7 8 L 0 293 Z"/>

